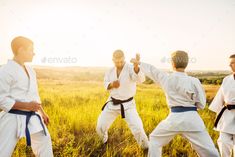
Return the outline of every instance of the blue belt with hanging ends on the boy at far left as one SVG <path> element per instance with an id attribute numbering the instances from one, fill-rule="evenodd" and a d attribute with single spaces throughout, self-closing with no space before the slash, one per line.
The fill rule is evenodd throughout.
<path id="1" fill-rule="evenodd" d="M 30 132 L 29 132 L 28 124 L 29 124 L 30 118 L 33 115 L 38 117 L 38 119 L 40 120 L 40 123 L 42 125 L 43 132 L 44 132 L 45 136 L 47 135 L 45 126 L 42 123 L 42 119 L 41 119 L 40 115 L 37 114 L 36 112 L 34 112 L 34 111 L 21 111 L 21 110 L 11 109 L 8 113 L 25 115 L 26 116 L 25 136 L 26 136 L 27 146 L 31 146 L 31 138 L 30 138 Z"/>

